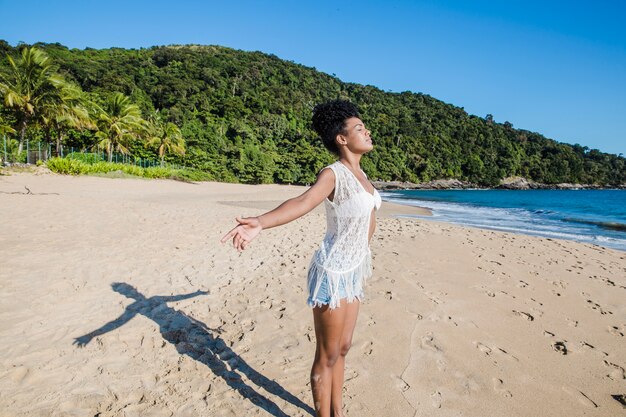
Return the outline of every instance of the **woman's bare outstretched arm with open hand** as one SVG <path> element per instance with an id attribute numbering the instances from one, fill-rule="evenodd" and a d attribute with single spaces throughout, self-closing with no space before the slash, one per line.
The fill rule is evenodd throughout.
<path id="1" fill-rule="evenodd" d="M 263 229 L 281 226 L 317 207 L 335 188 L 335 173 L 331 169 L 324 169 L 317 177 L 317 181 L 311 188 L 297 197 L 291 198 L 272 211 L 268 211 L 258 217 L 236 217 L 239 223 L 234 229 L 222 237 L 224 243 L 233 238 L 233 246 L 242 251 L 257 237 Z"/>

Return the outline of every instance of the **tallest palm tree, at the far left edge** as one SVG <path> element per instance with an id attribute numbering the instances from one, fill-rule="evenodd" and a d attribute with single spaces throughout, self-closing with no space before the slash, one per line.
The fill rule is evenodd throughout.
<path id="1" fill-rule="evenodd" d="M 20 132 L 18 153 L 21 153 L 28 123 L 39 117 L 46 102 L 59 101 L 59 86 L 63 78 L 56 72 L 48 55 L 34 46 L 23 48 L 17 62 L 10 56 L 7 58 L 9 74 L 0 75 L 0 93 L 4 104 L 15 111 Z"/>

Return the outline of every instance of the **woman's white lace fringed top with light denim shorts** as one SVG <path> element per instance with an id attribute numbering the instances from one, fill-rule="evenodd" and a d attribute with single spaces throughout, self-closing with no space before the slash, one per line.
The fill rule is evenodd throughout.
<path id="1" fill-rule="evenodd" d="M 373 208 L 380 208 L 381 198 L 376 189 L 369 193 L 341 162 L 326 168 L 335 173 L 335 193 L 333 201 L 324 200 L 326 235 L 311 259 L 308 288 L 310 305 L 328 304 L 332 309 L 342 298 L 363 298 L 364 281 L 372 275 L 370 217 Z"/>

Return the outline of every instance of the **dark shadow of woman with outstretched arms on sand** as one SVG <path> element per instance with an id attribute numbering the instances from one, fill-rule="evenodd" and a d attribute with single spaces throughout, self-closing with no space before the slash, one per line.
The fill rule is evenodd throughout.
<path id="1" fill-rule="evenodd" d="M 206 294 L 205 291 L 146 298 L 133 286 L 123 282 L 115 282 L 111 284 L 111 287 L 114 291 L 134 299 L 135 302 L 126 307 L 126 311 L 117 319 L 84 336 L 77 337 L 74 344 L 78 347 L 87 345 L 94 337 L 115 330 L 126 324 L 137 314 L 142 314 L 159 325 L 163 338 L 176 346 L 176 350 L 180 354 L 187 355 L 208 366 L 215 375 L 222 378 L 224 382 L 239 392 L 245 399 L 271 415 L 288 417 L 276 403 L 248 386 L 243 381 L 241 375 L 245 375 L 251 382 L 267 392 L 282 398 L 311 415 L 315 414 L 311 407 L 303 403 L 295 395 L 289 393 L 280 384 L 255 371 L 246 361 L 233 352 L 219 336 L 215 335 L 217 331 L 208 328 L 201 321 L 189 317 L 182 311 L 175 310 L 166 304 L 197 297 Z"/>

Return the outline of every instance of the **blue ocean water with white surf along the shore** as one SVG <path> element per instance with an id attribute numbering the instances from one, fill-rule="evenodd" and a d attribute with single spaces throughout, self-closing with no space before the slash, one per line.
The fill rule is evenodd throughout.
<path id="1" fill-rule="evenodd" d="M 381 196 L 427 207 L 431 220 L 626 251 L 626 190 L 394 190 Z"/>

